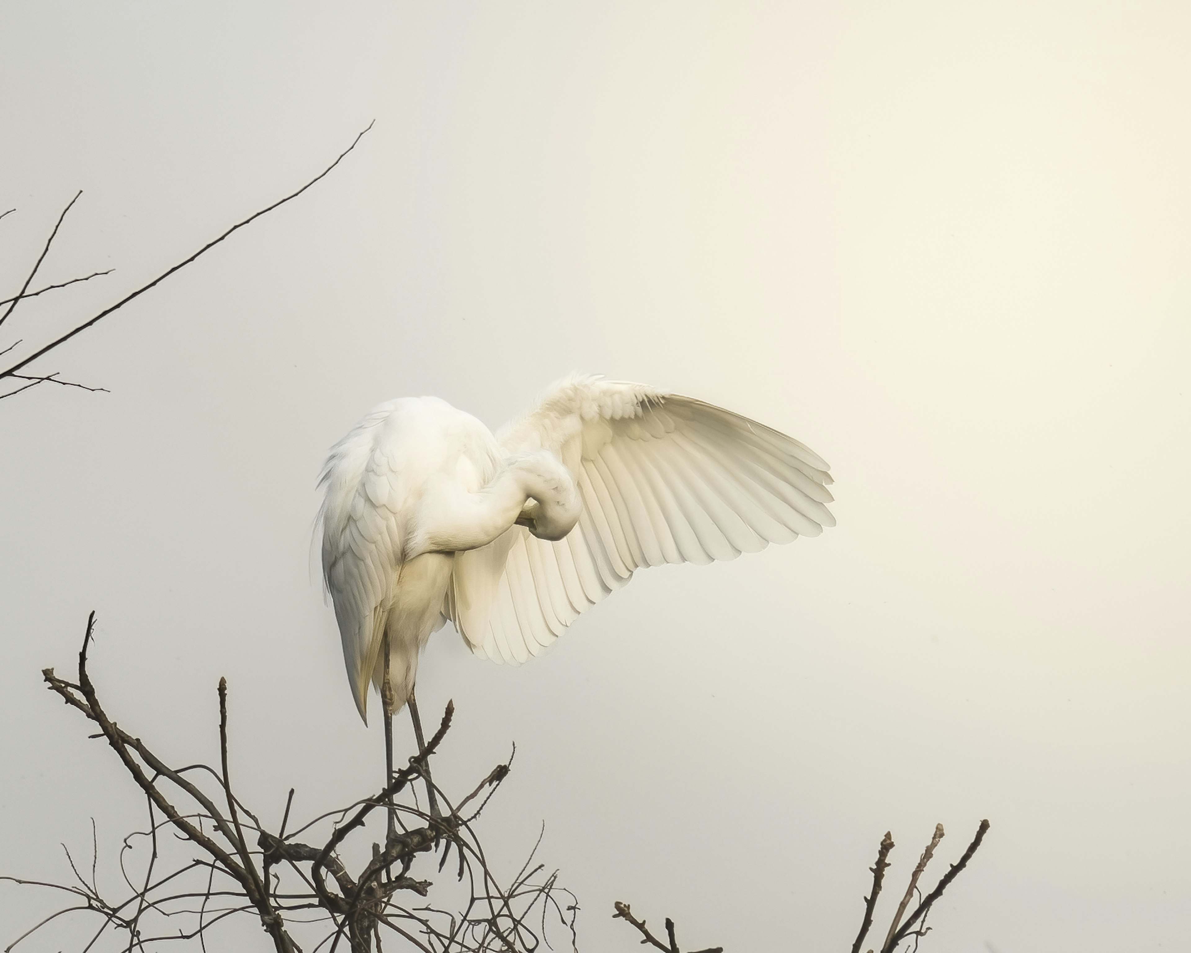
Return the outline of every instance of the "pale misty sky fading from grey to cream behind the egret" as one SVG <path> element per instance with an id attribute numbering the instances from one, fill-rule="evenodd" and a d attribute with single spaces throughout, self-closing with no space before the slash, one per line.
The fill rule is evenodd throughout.
<path id="1" fill-rule="evenodd" d="M 168 760 L 217 758 L 226 675 L 263 817 L 291 785 L 303 817 L 375 789 L 311 559 L 326 449 L 404 394 L 495 428 L 579 369 L 798 437 L 838 519 L 642 571 L 520 668 L 432 639 L 424 717 L 459 709 L 436 779 L 469 789 L 517 742 L 482 833 L 516 870 L 545 822 L 581 948 L 635 947 L 624 899 L 696 948 L 844 949 L 886 829 L 899 885 L 936 821 L 937 876 L 981 817 L 924 951 L 1186 948 L 1191 7 L 40 0 L 0 23 L 0 297 L 79 188 L 40 276 L 116 269 L 25 303 L 0 347 L 376 120 L 37 366 L 111 393 L 0 403 L 0 871 L 61 879 L 91 816 L 108 858 L 142 821 L 40 683 L 92 609 L 108 710 Z M 0 885 L 0 939 L 50 902 Z"/>

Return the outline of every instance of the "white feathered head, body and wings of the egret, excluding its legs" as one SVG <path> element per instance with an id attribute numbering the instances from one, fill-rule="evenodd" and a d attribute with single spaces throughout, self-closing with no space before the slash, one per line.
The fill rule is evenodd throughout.
<path id="1" fill-rule="evenodd" d="M 434 397 L 372 410 L 319 480 L 323 572 L 363 717 L 388 634 L 394 710 L 448 619 L 478 655 L 542 653 L 635 569 L 817 536 L 828 465 L 731 411 L 572 376 L 494 437 Z"/>

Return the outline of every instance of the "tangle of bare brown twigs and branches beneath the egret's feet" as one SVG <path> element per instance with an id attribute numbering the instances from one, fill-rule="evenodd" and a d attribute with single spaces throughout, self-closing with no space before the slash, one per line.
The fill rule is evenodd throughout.
<path id="1" fill-rule="evenodd" d="M 124 841 L 119 855 L 124 884 L 116 896 L 98 882 L 98 837 L 89 878 L 80 873 L 69 851 L 70 883 L 0 878 L 58 891 L 68 901 L 18 936 L 6 953 L 67 915 L 98 921 L 85 947 L 88 951 L 99 948 L 100 941 L 110 948 L 143 951 L 149 945 L 188 940 L 197 940 L 205 951 L 213 928 L 244 916 L 256 918 L 278 953 L 303 953 L 299 940 L 313 951 L 380 953 L 382 938 L 400 938 L 403 948 L 423 953 L 532 953 L 548 942 L 548 934 L 561 935 L 575 948 L 578 905 L 559 886 L 556 872 L 543 874 L 543 865 L 532 864 L 537 846 L 517 874 L 501 883 L 476 835 L 475 821 L 509 774 L 507 764 L 497 765 L 457 803 L 435 789 L 442 805 L 438 816 L 412 801 L 412 781 L 432 784 L 426 765 L 450 729 L 453 704 L 447 705 L 425 750 L 411 758 L 387 787 L 287 834 L 291 789 L 274 833 L 232 787 L 226 683 L 219 683 L 219 768 L 172 767 L 142 739 L 119 727 L 101 704 L 87 672 L 94 624 L 92 612 L 79 653 L 77 681 L 57 677 L 52 668 L 42 674 L 51 691 L 99 727 L 99 736 L 145 796 L 146 827 Z M 370 821 L 385 820 L 391 799 L 401 829 L 384 843 L 374 842 L 370 859 L 353 873 L 342 857 L 344 847 L 350 839 L 358 841 Z M 313 840 L 319 829 L 324 833 Z M 436 887 L 432 880 L 414 876 L 420 857 L 437 854 L 442 871 L 451 851 L 447 883 Z M 129 870 L 135 861 L 143 865 L 136 876 Z"/>

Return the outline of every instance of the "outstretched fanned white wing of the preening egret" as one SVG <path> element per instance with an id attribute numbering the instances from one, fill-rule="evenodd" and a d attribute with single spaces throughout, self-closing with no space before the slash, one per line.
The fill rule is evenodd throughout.
<path id="1" fill-rule="evenodd" d="M 835 525 L 828 465 L 798 441 L 679 394 L 569 378 L 498 435 L 550 449 L 584 509 L 557 542 L 513 527 L 460 553 L 447 611 L 473 652 L 519 664 L 543 652 L 635 569 L 706 563 Z"/>

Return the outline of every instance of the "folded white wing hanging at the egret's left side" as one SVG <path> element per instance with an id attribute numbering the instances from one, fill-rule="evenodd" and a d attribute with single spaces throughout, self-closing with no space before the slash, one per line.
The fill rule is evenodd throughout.
<path id="1" fill-rule="evenodd" d="M 381 635 L 401 567 L 395 515 L 403 496 L 391 442 L 384 440 L 391 404 L 381 404 L 331 448 L 318 485 L 323 579 L 335 603 L 343 660 L 360 716 L 376 666 Z"/>

